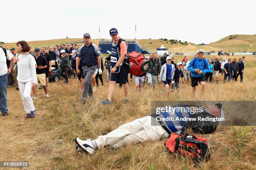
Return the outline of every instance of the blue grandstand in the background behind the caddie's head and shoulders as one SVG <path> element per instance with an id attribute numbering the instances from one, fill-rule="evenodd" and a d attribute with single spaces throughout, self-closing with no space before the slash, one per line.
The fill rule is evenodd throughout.
<path id="1" fill-rule="evenodd" d="M 128 52 L 141 52 L 143 54 L 151 54 L 152 50 L 149 50 L 146 47 L 141 47 L 141 45 L 138 43 L 137 40 L 125 40 L 128 44 Z M 112 47 L 112 40 L 110 39 L 100 39 L 99 41 L 99 47 L 101 47 L 100 51 L 102 53 L 107 53 L 107 51 L 111 52 L 111 47 Z"/>

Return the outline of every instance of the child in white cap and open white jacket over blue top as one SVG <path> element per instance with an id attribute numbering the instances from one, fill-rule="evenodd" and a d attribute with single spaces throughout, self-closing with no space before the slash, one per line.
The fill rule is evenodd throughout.
<path id="1" fill-rule="evenodd" d="M 174 76 L 174 65 L 171 63 L 172 57 L 169 55 L 166 57 L 166 63 L 162 65 L 159 75 L 159 82 L 164 83 L 164 94 L 168 95 L 169 88 L 172 87 L 172 80 Z"/>

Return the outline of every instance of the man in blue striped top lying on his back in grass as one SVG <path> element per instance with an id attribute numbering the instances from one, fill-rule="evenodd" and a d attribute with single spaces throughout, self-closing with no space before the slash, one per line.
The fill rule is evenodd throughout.
<path id="1" fill-rule="evenodd" d="M 218 121 L 215 120 L 224 117 L 223 105 L 221 103 L 209 105 L 205 110 L 202 110 L 202 107 L 197 107 L 197 111 L 195 111 L 195 107 L 197 106 L 172 106 L 164 112 L 161 110 L 161 112 L 155 112 L 125 123 L 107 135 L 98 136 L 95 140 L 75 138 L 76 149 L 78 152 L 86 150 L 88 153 L 94 154 L 95 149 L 103 148 L 106 145 L 119 148 L 128 143 L 168 138 L 171 133 L 180 134 L 185 127 L 192 128 L 195 133 L 214 132 L 218 125 Z M 189 118 L 193 118 L 193 120 L 189 120 Z"/>

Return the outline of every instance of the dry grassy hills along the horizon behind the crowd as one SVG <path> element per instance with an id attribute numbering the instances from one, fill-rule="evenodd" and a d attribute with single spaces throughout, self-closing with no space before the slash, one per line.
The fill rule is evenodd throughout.
<path id="1" fill-rule="evenodd" d="M 229 40 L 230 37 L 232 37 L 231 40 Z M 164 37 L 162 37 L 162 38 L 164 38 Z M 42 47 L 42 46 L 49 47 L 49 46 L 53 46 L 56 44 L 73 42 L 73 41 L 77 41 L 77 40 L 80 41 L 82 39 L 69 38 L 69 39 L 58 39 L 58 40 L 31 41 L 31 42 L 29 42 L 29 44 L 32 47 L 31 49 L 34 49 L 35 47 Z M 218 52 L 218 50 L 224 50 L 225 52 L 227 52 L 228 50 L 230 50 L 230 53 L 243 52 L 243 50 L 246 50 L 246 52 L 256 51 L 256 35 L 230 35 L 228 37 L 224 37 L 221 40 L 212 42 L 207 45 L 196 45 L 191 42 L 188 42 L 187 45 L 181 45 L 180 43 L 171 44 L 169 41 L 148 40 L 148 39 L 138 40 L 138 42 L 140 43 L 140 45 L 143 48 L 148 47 L 151 50 L 156 50 L 156 48 L 159 48 L 159 47 L 161 47 L 162 44 L 164 44 L 164 47 L 168 48 L 169 52 L 172 52 L 172 53 L 175 53 L 175 52 L 181 52 L 181 53 L 197 52 L 198 49 L 204 49 L 205 52 L 210 52 L 210 51 Z M 98 45 L 99 40 L 92 40 L 92 43 L 95 43 L 96 45 Z M 3 45 L 3 47 L 10 49 L 11 47 L 16 47 L 15 44 L 16 43 L 6 43 L 6 44 L 2 44 L 2 45 Z M 77 45 L 80 46 L 81 43 L 77 43 Z"/>

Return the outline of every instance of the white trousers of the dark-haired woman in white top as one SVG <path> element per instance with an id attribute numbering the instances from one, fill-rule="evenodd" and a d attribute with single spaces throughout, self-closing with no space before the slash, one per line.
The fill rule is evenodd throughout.
<path id="1" fill-rule="evenodd" d="M 32 81 L 31 82 L 19 82 L 19 90 L 20 90 L 20 97 L 23 102 L 24 109 L 27 113 L 35 110 L 35 106 L 33 104 L 33 100 L 30 96 L 31 89 L 32 89 Z"/>

